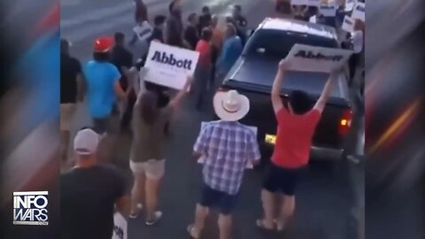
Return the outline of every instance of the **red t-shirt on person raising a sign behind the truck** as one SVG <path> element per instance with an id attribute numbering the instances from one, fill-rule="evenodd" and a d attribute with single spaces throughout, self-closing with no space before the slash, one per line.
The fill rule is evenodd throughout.
<path id="1" fill-rule="evenodd" d="M 310 158 L 310 148 L 321 112 L 313 109 L 303 115 L 288 111 L 285 107 L 276 113 L 277 135 L 272 161 L 286 168 L 305 166 Z"/>

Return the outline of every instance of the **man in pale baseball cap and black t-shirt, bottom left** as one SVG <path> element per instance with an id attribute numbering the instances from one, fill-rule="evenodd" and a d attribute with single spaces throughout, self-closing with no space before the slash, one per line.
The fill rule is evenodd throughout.
<path id="1" fill-rule="evenodd" d="M 125 177 L 112 166 L 97 164 L 99 141 L 90 128 L 74 138 L 76 165 L 60 178 L 62 238 L 111 239 L 114 208 L 128 215 Z"/>

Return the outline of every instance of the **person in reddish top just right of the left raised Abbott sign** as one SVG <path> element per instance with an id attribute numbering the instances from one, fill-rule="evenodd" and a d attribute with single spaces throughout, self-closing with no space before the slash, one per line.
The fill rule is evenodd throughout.
<path id="1" fill-rule="evenodd" d="M 197 91 L 197 110 L 202 109 L 205 92 L 208 89 L 209 79 L 211 77 L 211 45 L 210 41 L 213 37 L 213 31 L 209 27 L 204 27 L 201 33 L 201 40 L 197 42 L 197 52 L 199 52 L 199 59 L 197 61 L 196 71 L 196 91 Z"/>

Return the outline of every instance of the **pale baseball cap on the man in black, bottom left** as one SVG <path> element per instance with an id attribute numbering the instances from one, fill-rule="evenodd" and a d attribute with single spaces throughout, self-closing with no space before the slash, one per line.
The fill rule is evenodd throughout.
<path id="1" fill-rule="evenodd" d="M 90 155 L 96 153 L 99 142 L 100 135 L 91 128 L 84 128 L 75 135 L 73 150 L 78 155 Z"/>

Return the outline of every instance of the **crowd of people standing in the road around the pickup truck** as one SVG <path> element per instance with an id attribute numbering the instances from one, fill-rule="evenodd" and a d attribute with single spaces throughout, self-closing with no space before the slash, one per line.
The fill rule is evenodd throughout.
<path id="1" fill-rule="evenodd" d="M 111 238 L 113 212 L 129 219 L 143 213 L 147 226 L 161 219 L 158 189 L 166 173 L 165 144 L 174 114 L 191 86 L 195 107 L 201 111 L 206 102 L 205 92 L 213 88 L 216 77 L 226 74 L 242 53 L 247 20 L 241 6 L 236 5 L 233 15 L 222 22 L 205 6 L 199 15 L 190 13 L 187 24 L 183 24 L 180 0 L 170 3 L 168 10 L 168 16 L 155 16 L 151 26 L 146 5 L 137 0 L 135 34 L 129 43 L 163 42 L 199 52 L 194 76 L 189 76 L 184 88 L 175 94 L 139 77 L 139 72 L 151 70 L 143 67 L 146 54 L 138 56 L 141 60 L 135 62 L 122 33 L 113 38 L 97 38 L 92 60 L 82 66 L 71 56 L 69 42 L 61 41 L 61 158 L 73 166 L 61 177 L 64 238 Z M 308 11 L 300 7 L 294 12 L 297 18 L 305 19 L 303 14 Z M 284 60 L 277 66 L 271 94 L 278 128 L 272 166 L 260 193 L 264 217 L 256 222 L 264 230 L 283 231 L 294 213 L 298 174 L 308 163 L 315 127 L 336 83 L 336 73 L 332 73 L 316 104 L 310 104 L 309 96 L 298 90 L 283 103 L 280 89 L 288 66 L 290 62 Z M 84 97 L 93 127 L 82 128 L 75 135 L 75 159 L 69 160 L 71 121 L 76 103 L 84 101 Z M 243 172 L 248 163 L 259 163 L 259 145 L 251 129 L 238 122 L 249 112 L 246 96 L 235 90 L 216 93 L 213 108 L 220 120 L 201 128 L 193 146 L 193 158 L 205 162 L 204 187 L 196 205 L 195 221 L 187 230 L 192 238 L 199 238 L 210 209 L 219 208 L 220 239 L 229 239 Z M 98 146 L 111 133 L 111 118 L 117 114 L 120 130 L 132 135 L 128 161 L 134 176 L 131 189 L 117 168 L 100 164 L 98 158 Z M 289 139 L 283 135 L 294 136 Z"/>

